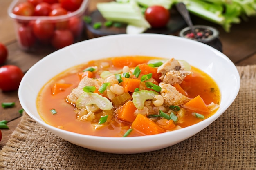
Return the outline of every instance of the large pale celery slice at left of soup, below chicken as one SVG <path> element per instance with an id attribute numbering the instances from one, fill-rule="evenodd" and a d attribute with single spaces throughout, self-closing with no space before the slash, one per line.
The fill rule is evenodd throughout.
<path id="1" fill-rule="evenodd" d="M 80 109 L 92 104 L 96 104 L 101 110 L 111 110 L 113 108 L 112 102 L 108 98 L 97 93 L 83 92 L 76 100 L 76 107 Z"/>

